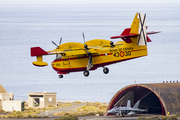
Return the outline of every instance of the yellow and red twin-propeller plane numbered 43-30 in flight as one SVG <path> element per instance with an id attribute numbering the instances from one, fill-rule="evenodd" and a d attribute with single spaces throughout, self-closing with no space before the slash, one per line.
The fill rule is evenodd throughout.
<path id="1" fill-rule="evenodd" d="M 147 35 L 158 32 L 146 32 L 146 29 L 146 14 L 136 13 L 130 28 L 126 28 L 120 36 L 111 37 L 111 39 L 121 38 L 123 41 L 113 43 L 109 40 L 93 39 L 84 44 L 78 42 L 61 44 L 61 38 L 59 45 L 52 41 L 57 48 L 51 51 L 32 47 L 31 56 L 37 58 L 33 64 L 47 66 L 48 64 L 43 62 L 42 56 L 56 55 L 56 59 L 51 65 L 60 74 L 59 78 L 62 78 L 63 74 L 77 71 L 83 71 L 84 76 L 87 77 L 90 70 L 98 67 L 102 67 L 103 72 L 107 74 L 109 72 L 107 65 L 147 56 L 147 42 L 151 42 Z"/>

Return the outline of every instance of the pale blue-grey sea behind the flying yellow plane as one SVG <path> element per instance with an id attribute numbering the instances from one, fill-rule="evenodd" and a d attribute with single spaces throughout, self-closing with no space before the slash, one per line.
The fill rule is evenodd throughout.
<path id="1" fill-rule="evenodd" d="M 59 43 L 107 39 L 129 28 L 137 12 L 146 13 L 148 56 L 101 68 L 64 75 L 51 67 L 55 55 L 44 56 L 47 67 L 35 67 L 30 48 L 56 48 Z M 179 4 L 0 4 L 0 84 L 15 100 L 28 100 L 28 93 L 56 92 L 58 100 L 108 103 L 117 91 L 131 84 L 180 82 Z M 117 42 L 121 39 L 113 39 Z"/>

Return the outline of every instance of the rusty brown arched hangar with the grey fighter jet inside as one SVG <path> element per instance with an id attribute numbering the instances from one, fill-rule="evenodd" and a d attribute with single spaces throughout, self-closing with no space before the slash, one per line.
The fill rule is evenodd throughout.
<path id="1" fill-rule="evenodd" d="M 126 106 L 131 100 L 133 106 L 141 100 L 139 108 L 148 113 L 169 115 L 180 112 L 180 83 L 134 84 L 119 90 L 111 99 L 108 109 Z"/>

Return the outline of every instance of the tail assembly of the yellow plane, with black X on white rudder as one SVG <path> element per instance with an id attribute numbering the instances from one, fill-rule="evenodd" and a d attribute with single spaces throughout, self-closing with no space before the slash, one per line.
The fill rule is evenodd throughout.
<path id="1" fill-rule="evenodd" d="M 134 16 L 131 28 L 126 28 L 120 36 L 113 36 L 111 39 L 121 38 L 126 43 L 136 42 L 137 45 L 147 45 L 147 42 L 151 42 L 148 34 L 155 34 L 159 32 L 147 32 L 146 33 L 146 14 L 136 13 Z"/>

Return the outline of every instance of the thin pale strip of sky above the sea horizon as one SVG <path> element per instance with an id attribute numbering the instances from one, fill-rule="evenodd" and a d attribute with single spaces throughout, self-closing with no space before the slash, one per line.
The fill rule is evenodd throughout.
<path id="1" fill-rule="evenodd" d="M 180 0 L 0 0 L 0 3 L 58 3 L 58 4 L 134 4 L 134 3 L 180 3 Z"/>

